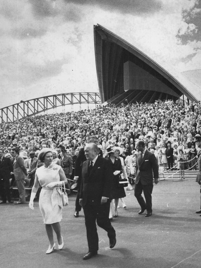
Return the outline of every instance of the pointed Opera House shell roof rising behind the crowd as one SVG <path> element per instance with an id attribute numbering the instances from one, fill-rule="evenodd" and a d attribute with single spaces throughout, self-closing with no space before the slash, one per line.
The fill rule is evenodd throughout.
<path id="1" fill-rule="evenodd" d="M 94 25 L 96 70 L 101 102 L 149 102 L 177 100 L 185 95 L 191 101 L 201 88 L 169 65 L 159 64 L 121 37 Z"/>

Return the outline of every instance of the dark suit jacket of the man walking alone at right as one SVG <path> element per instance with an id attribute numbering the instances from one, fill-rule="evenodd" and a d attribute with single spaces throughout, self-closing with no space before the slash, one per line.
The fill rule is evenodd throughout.
<path id="1" fill-rule="evenodd" d="M 159 177 L 156 156 L 150 151 L 146 150 L 142 163 L 139 164 L 140 154 L 140 152 L 137 154 L 136 159 L 135 184 L 138 184 L 139 180 L 142 185 L 153 184 L 153 177 L 155 179 L 158 179 Z"/>

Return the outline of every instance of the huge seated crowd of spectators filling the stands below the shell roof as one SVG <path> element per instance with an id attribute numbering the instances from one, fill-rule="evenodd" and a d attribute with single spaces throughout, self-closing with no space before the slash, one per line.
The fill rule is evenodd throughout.
<path id="1" fill-rule="evenodd" d="M 96 135 L 103 155 L 108 147 L 122 147 L 122 151 L 126 152 L 125 162 L 127 166 L 131 163 L 132 171 L 135 160 L 131 160 L 135 159 L 138 140 L 144 140 L 148 150 L 154 150 L 158 155 L 158 163 L 164 164 L 162 155 L 167 143 L 174 149 L 174 162 L 179 150 L 186 159 L 195 158 L 196 134 L 201 135 L 200 102 L 156 100 L 152 104 L 109 104 L 92 110 L 36 115 L 2 123 L 0 147 L 7 156 L 13 147 L 17 147 L 21 155 L 27 154 L 28 157 L 31 151 L 37 155 L 42 148 L 49 147 L 56 150 L 57 157 L 61 158 L 62 149 L 67 149 L 69 155 L 71 151 L 77 155 L 79 149 L 88 143 L 89 137 Z"/>

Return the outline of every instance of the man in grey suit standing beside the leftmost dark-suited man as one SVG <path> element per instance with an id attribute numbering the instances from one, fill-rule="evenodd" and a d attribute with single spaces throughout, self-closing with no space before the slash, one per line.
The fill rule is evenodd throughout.
<path id="1" fill-rule="evenodd" d="M 14 158 L 13 162 L 13 172 L 15 181 L 17 183 L 18 192 L 19 192 L 19 201 L 15 203 L 15 205 L 24 204 L 26 203 L 25 199 L 25 189 L 24 189 L 24 179 L 28 175 L 27 169 L 24 165 L 24 159 L 19 156 L 19 149 L 12 148 L 11 155 Z"/>

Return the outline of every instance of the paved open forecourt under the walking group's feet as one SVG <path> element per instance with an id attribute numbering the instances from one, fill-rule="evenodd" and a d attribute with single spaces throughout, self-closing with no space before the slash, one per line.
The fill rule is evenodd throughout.
<path id="1" fill-rule="evenodd" d="M 195 179 L 160 181 L 152 194 L 153 214 L 138 215 L 134 191 L 126 191 L 126 209 L 120 204 L 113 218 L 117 244 L 109 249 L 109 239 L 98 228 L 99 251 L 84 261 L 88 252 L 83 211 L 74 217 L 75 195 L 63 210 L 61 222 L 64 249 L 46 255 L 49 241 L 42 222 L 38 201 L 32 211 L 27 204 L 3 204 L 1 211 L 1 267 L 135 267 L 189 268 L 201 263 L 201 217 L 199 185 Z M 56 242 L 55 237 L 55 242 Z"/>

